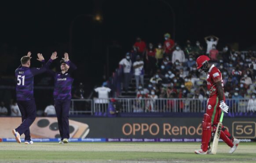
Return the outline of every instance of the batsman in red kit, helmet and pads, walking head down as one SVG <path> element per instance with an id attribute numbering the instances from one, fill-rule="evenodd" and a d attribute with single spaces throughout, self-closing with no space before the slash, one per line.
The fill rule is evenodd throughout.
<path id="1" fill-rule="evenodd" d="M 201 74 L 207 74 L 207 89 L 210 92 L 207 103 L 206 113 L 202 122 L 202 142 L 201 149 L 196 150 L 196 154 L 210 154 L 208 144 L 211 139 L 212 129 L 216 131 L 221 112 L 227 113 L 228 106 L 225 103 L 222 74 L 214 64 L 209 64 L 210 58 L 202 55 L 197 58 L 197 70 Z M 233 153 L 239 144 L 239 140 L 233 138 L 230 133 L 222 126 L 220 138 L 231 147 L 229 153 Z"/>

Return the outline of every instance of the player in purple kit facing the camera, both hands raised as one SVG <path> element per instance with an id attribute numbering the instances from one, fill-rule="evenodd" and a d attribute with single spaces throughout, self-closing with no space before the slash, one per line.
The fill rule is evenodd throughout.
<path id="1" fill-rule="evenodd" d="M 60 63 L 61 72 L 51 70 L 48 70 L 48 72 L 55 79 L 53 98 L 61 136 L 59 143 L 62 144 L 69 142 L 69 108 L 71 102 L 71 88 L 74 80 L 71 73 L 76 70 L 77 67 L 69 60 L 68 53 L 64 53 L 64 58 L 62 58 Z"/>

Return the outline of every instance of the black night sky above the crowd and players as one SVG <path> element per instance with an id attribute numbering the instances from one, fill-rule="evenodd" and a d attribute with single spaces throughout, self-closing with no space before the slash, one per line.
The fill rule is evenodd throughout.
<path id="1" fill-rule="evenodd" d="M 217 49 L 238 43 L 239 50 L 256 44 L 256 2 L 253 0 L 80 0 L 80 1 L 10 1 L 1 2 L 0 50 L 12 51 L 17 59 L 10 61 L 18 67 L 27 51 L 43 53 L 49 58 L 53 51 L 59 57 L 68 52 L 77 64 L 75 81 L 88 85 L 103 82 L 106 74 L 106 51 L 109 47 L 109 73 L 129 51 L 140 36 L 146 43 L 163 42 L 163 35 L 175 26 L 175 41 L 194 44 L 204 37 L 219 37 Z M 91 15 L 100 14 L 102 21 Z M 80 15 L 80 16 L 78 16 Z M 173 25 L 175 16 L 175 25 Z M 72 43 L 70 51 L 70 25 Z M 2 54 L 0 54 L 2 55 Z M 36 57 L 36 56 L 35 56 Z M 35 58 L 34 58 L 35 59 Z M 32 66 L 37 66 L 34 60 Z M 17 66 L 16 66 L 17 65 Z M 59 67 L 59 63 L 55 65 Z M 13 74 L 15 68 L 7 70 Z"/>

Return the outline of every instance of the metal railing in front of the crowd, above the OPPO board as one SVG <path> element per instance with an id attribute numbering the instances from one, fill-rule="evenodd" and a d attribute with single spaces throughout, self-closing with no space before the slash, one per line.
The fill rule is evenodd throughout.
<path id="1" fill-rule="evenodd" d="M 120 113 L 205 113 L 209 108 L 207 99 L 151 99 L 151 98 L 116 98 L 114 103 Z M 255 102 L 254 102 L 255 101 Z M 71 114 L 106 113 L 110 99 L 72 99 Z M 226 99 L 230 113 L 256 112 L 256 100 Z M 213 109 L 214 106 L 211 106 Z"/>

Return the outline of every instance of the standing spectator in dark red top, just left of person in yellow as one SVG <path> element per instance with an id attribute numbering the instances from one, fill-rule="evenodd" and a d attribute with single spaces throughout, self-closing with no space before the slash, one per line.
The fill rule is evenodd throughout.
<path id="1" fill-rule="evenodd" d="M 153 44 L 149 43 L 149 48 L 146 50 L 146 56 L 148 58 L 148 73 L 150 75 L 156 72 L 156 50 L 153 48 Z"/>

